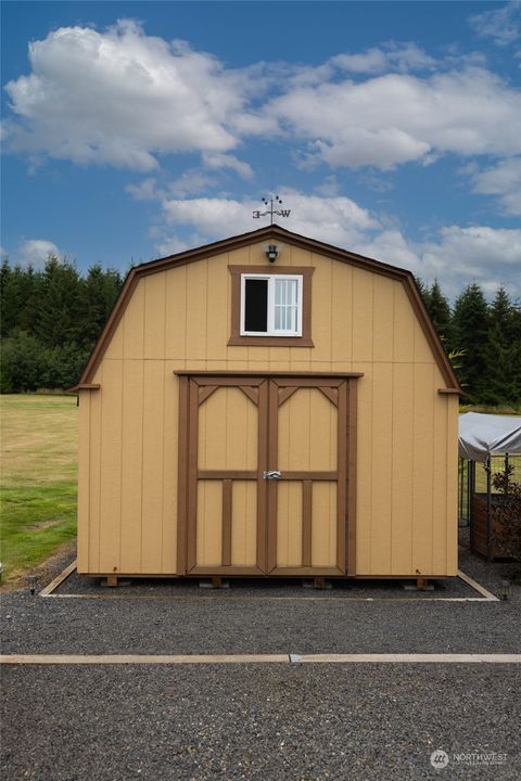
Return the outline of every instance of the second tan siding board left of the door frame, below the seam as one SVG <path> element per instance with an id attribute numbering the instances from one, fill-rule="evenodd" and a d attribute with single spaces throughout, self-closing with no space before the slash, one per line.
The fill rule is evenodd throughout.
<path id="1" fill-rule="evenodd" d="M 161 573 L 163 561 L 164 362 L 144 361 L 141 567 Z"/>

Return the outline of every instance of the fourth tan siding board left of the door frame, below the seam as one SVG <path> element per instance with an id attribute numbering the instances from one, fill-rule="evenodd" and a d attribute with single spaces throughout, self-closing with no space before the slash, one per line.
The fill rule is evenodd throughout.
<path id="1" fill-rule="evenodd" d="M 103 362 L 100 569 L 120 572 L 123 361 Z"/>

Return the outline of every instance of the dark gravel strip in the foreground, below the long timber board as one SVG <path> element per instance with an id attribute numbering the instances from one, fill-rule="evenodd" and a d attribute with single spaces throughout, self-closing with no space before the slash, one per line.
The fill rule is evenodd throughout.
<path id="1" fill-rule="evenodd" d="M 509 666 L 9 668 L 5 779 L 518 781 Z M 505 765 L 434 770 L 432 751 Z"/>

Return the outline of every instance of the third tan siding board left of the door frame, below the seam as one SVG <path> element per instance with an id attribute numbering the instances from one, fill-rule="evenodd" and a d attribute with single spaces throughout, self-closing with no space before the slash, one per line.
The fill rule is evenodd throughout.
<path id="1" fill-rule="evenodd" d="M 141 571 L 143 477 L 143 361 L 123 369 L 122 572 Z"/>

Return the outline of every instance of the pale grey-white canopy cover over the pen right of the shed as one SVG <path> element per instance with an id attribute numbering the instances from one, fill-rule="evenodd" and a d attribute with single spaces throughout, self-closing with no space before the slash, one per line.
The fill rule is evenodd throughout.
<path id="1" fill-rule="evenodd" d="M 521 453 L 521 415 L 459 415 L 459 456 L 486 462 L 488 456 Z"/>

